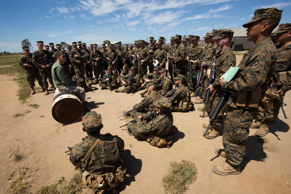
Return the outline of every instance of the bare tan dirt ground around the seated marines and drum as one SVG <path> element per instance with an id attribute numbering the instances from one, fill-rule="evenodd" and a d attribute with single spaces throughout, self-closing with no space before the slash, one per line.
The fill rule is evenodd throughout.
<path id="1" fill-rule="evenodd" d="M 237 55 L 237 64 L 241 59 L 242 55 Z M 38 91 L 31 95 L 29 103 L 21 104 L 17 96 L 19 88 L 13 77 L 1 75 L 0 86 L 0 193 L 7 193 L 8 178 L 18 167 L 38 169 L 30 177 L 33 181 L 31 190 L 61 177 L 69 180 L 77 171 L 69 161 L 69 155 L 64 152 L 68 150 L 68 146 L 79 143 L 86 136 L 81 130 L 81 120 L 63 125 L 53 119 L 52 89 L 47 96 Z M 157 148 L 142 139 L 129 136 L 125 130 L 119 128 L 125 121 L 124 118 L 117 117 L 141 101 L 139 92 L 115 93 L 101 90 L 97 84 L 95 87 L 98 90 L 88 92 L 87 106 L 102 114 L 102 133 L 118 135 L 124 140 L 125 163 L 128 173 L 132 175 L 132 179 L 126 179 L 116 189 L 116 193 L 164 193 L 161 183 L 170 162 L 179 162 L 182 159 L 193 161 L 198 169 L 197 180 L 190 185 L 187 194 L 291 193 L 289 92 L 284 99 L 289 106 L 284 108 L 290 119 L 284 119 L 280 111 L 276 124 L 270 127 L 270 133 L 266 136 L 270 151 L 262 149 L 254 136 L 256 130 L 250 129 L 241 174 L 220 176 L 212 172 L 211 168 L 225 162 L 221 157 L 213 159 L 216 156 L 214 149 L 223 148 L 222 136 L 213 140 L 203 138 L 202 124 L 209 121 L 208 118 L 199 117 L 201 112 L 197 108 L 203 104 L 195 104 L 196 111 L 192 108 L 187 113 L 173 113 L 174 125 L 178 127 L 176 137 L 173 138 L 170 148 Z M 38 104 L 39 108 L 34 109 L 27 106 L 28 104 Z M 27 110 L 31 112 L 25 113 Z M 22 113 L 24 116 L 14 118 L 15 113 Z M 41 117 L 42 115 L 44 116 Z M 20 163 L 12 160 L 17 146 L 26 154 Z"/>

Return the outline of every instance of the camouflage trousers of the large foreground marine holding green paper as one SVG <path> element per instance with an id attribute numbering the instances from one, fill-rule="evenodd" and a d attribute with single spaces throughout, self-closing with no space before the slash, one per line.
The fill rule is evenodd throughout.
<path id="1" fill-rule="evenodd" d="M 233 166 L 242 163 L 246 151 L 246 139 L 249 136 L 249 127 L 258 109 L 229 107 L 224 122 L 222 143 L 226 159 Z"/>

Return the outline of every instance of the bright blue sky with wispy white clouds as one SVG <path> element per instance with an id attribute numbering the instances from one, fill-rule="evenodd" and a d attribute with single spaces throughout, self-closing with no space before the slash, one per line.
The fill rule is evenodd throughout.
<path id="1" fill-rule="evenodd" d="M 175 34 L 203 37 L 212 29 L 241 28 L 255 9 L 269 7 L 283 10 L 280 24 L 291 22 L 290 0 L 1 1 L 0 52 L 22 52 L 26 38 L 33 50 L 38 40 L 99 45 L 164 36 L 168 43 Z"/>

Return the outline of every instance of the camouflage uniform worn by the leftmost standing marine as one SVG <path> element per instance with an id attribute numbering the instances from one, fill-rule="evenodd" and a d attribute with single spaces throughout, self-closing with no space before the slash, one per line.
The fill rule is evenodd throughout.
<path id="1" fill-rule="evenodd" d="M 29 62 L 32 63 L 32 54 L 30 54 L 29 56 L 27 56 L 26 54 L 23 54 L 20 58 L 19 58 L 19 65 L 26 70 L 26 80 L 29 84 L 29 86 L 31 87 L 31 89 L 33 90 L 33 87 L 36 85 L 34 83 L 35 80 L 38 81 L 38 85 L 43 88 L 43 84 L 42 84 L 42 79 L 40 77 L 40 73 L 38 69 L 35 69 L 33 67 L 26 67 L 24 64 L 25 62 L 23 62 L 21 59 L 22 58 L 26 58 Z"/>

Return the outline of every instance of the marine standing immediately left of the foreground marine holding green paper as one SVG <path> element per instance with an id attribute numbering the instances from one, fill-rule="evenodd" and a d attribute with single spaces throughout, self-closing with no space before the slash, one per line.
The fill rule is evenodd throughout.
<path id="1" fill-rule="evenodd" d="M 227 38 L 227 42 L 226 41 Z M 211 119 L 211 115 L 214 112 L 221 96 L 225 91 L 221 90 L 219 87 L 219 78 L 225 74 L 230 67 L 235 67 L 236 57 L 233 53 L 233 50 L 230 47 L 231 40 L 233 38 L 233 31 L 230 29 L 220 29 L 217 36 L 213 37 L 216 40 L 217 46 L 221 48 L 221 52 L 219 52 L 216 56 L 215 63 L 215 82 L 211 85 L 211 93 L 213 90 L 216 90 L 215 95 L 212 96 L 211 101 L 206 106 L 206 111 L 208 113 L 209 119 Z M 207 70 L 210 74 L 211 68 L 209 67 Z M 212 89 L 213 88 L 213 89 Z M 218 116 L 212 122 L 212 131 L 209 131 L 208 134 L 205 135 L 207 139 L 214 139 L 220 135 L 220 128 L 223 123 L 223 115 Z M 207 124 L 203 124 L 205 127 Z"/>

